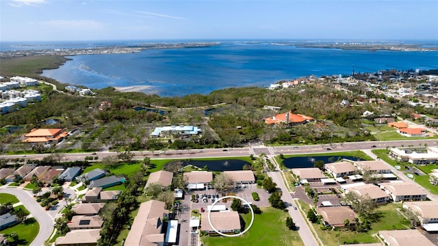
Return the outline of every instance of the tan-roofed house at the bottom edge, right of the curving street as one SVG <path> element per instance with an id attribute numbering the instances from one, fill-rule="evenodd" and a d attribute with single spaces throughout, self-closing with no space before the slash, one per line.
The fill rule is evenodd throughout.
<path id="1" fill-rule="evenodd" d="M 101 238 L 101 229 L 73 230 L 56 238 L 56 246 L 95 246 Z"/>

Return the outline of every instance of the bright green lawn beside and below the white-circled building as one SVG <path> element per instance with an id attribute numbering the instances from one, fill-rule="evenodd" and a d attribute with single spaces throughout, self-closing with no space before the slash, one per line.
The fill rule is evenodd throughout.
<path id="1" fill-rule="evenodd" d="M 263 213 L 255 215 L 253 226 L 242 236 L 202 236 L 203 245 L 304 245 L 298 232 L 286 228 L 287 213 L 271 207 L 261 210 Z M 242 218 L 248 225 L 251 214 Z"/>

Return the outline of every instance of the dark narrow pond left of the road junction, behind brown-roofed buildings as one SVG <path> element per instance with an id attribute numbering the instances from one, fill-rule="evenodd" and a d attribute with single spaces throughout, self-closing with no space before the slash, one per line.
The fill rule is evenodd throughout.
<path id="1" fill-rule="evenodd" d="M 237 171 L 237 170 L 243 170 L 244 165 L 250 165 L 250 163 L 242 160 L 235 160 L 235 159 L 227 159 L 227 160 L 220 160 L 220 161 L 183 161 L 183 166 L 186 165 L 194 165 L 196 167 L 203 168 L 207 166 L 209 171 Z"/>

